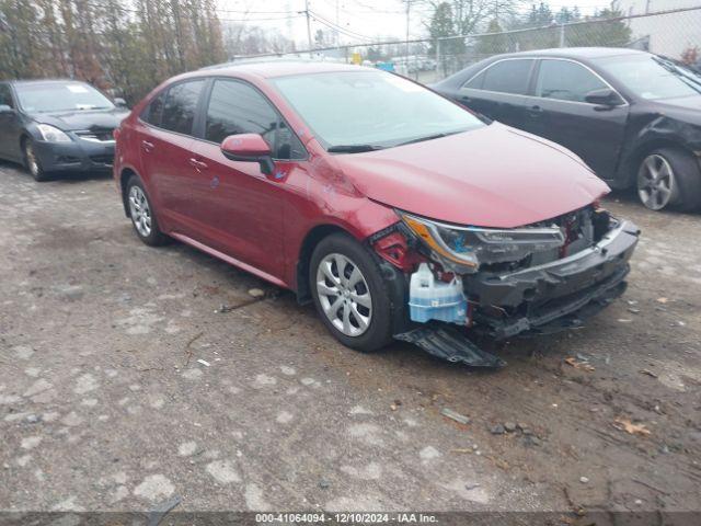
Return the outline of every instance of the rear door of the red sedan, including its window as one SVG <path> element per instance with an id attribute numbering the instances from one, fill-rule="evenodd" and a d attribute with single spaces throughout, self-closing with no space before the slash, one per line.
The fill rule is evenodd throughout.
<path id="1" fill-rule="evenodd" d="M 151 102 L 139 148 L 149 191 L 166 230 L 195 237 L 204 220 L 206 181 L 197 169 L 192 137 L 206 79 L 172 85 Z M 196 239 L 196 238 L 195 238 Z"/>

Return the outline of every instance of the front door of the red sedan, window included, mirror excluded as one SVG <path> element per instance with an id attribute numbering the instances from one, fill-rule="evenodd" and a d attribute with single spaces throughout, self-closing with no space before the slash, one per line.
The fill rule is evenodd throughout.
<path id="1" fill-rule="evenodd" d="M 273 174 L 220 150 L 229 135 L 261 134 L 276 159 Z M 212 248 L 275 277 L 284 272 L 285 181 L 306 151 L 273 105 L 252 85 L 216 79 L 205 108 L 196 160 L 206 168 L 207 237 Z"/>

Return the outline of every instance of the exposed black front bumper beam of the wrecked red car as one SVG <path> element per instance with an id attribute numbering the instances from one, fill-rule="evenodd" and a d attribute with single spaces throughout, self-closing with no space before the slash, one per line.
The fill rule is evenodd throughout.
<path id="1" fill-rule="evenodd" d="M 625 289 L 640 230 L 617 224 L 589 249 L 504 274 L 463 276 L 474 306 L 474 328 L 497 340 L 577 325 Z"/>

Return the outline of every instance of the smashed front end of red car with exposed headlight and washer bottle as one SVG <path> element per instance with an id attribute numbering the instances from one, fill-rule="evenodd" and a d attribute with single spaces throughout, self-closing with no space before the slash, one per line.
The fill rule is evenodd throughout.
<path id="1" fill-rule="evenodd" d="M 410 281 L 413 328 L 395 338 L 489 367 L 503 362 L 470 342 L 467 328 L 504 340 L 579 327 L 624 291 L 640 235 L 596 204 L 513 229 L 399 215 L 397 228 L 372 241 Z"/>

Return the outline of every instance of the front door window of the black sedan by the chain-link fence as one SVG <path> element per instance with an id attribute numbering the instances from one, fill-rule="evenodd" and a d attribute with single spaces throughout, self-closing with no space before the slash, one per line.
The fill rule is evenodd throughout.
<path id="1" fill-rule="evenodd" d="M 587 68 L 570 60 L 544 59 L 540 62 L 536 96 L 559 101 L 586 102 L 587 93 L 608 85 Z"/>

